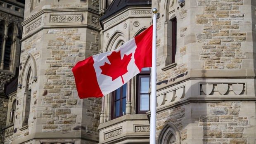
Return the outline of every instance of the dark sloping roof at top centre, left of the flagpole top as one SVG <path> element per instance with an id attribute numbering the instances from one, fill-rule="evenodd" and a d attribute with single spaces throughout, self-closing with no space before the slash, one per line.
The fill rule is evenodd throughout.
<path id="1" fill-rule="evenodd" d="M 151 0 L 114 0 L 111 5 L 109 5 L 105 14 L 100 18 L 100 22 L 107 19 L 113 14 L 120 12 L 126 7 L 136 7 L 136 6 L 147 6 L 151 7 Z"/>

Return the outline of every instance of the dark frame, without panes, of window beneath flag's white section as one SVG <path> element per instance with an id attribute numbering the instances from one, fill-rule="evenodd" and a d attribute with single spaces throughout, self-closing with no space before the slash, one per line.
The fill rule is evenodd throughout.
<path id="1" fill-rule="evenodd" d="M 123 86 L 124 85 L 126 85 L 126 96 L 125 97 L 123 97 Z M 119 116 L 115 116 L 115 110 L 116 110 L 116 108 L 115 108 L 115 102 L 116 101 L 118 101 L 118 100 L 116 100 L 116 90 L 114 91 L 114 92 L 112 92 L 111 93 L 111 97 L 112 97 L 112 99 L 111 99 L 111 120 L 113 120 L 113 119 L 115 119 L 115 118 L 119 118 L 119 117 L 121 117 L 121 116 L 123 116 L 123 111 L 122 111 L 122 108 L 123 108 L 123 99 L 126 99 L 126 97 L 127 97 L 127 83 L 126 84 L 124 84 L 124 85 L 122 85 L 121 87 L 119 87 L 120 88 L 120 98 L 118 99 L 118 100 L 120 100 L 120 104 L 119 104 Z M 119 89 L 118 88 L 118 89 Z M 117 89 L 117 90 L 118 90 Z M 126 106 L 125 106 L 126 107 Z M 125 114 L 126 114 L 126 112 L 125 112 Z"/>

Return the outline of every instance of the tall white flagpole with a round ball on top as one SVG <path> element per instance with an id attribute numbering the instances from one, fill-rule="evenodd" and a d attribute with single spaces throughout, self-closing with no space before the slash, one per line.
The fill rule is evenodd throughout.
<path id="1" fill-rule="evenodd" d="M 151 97 L 150 97 L 150 144 L 156 144 L 156 19 L 158 11 L 152 9 L 153 39 L 152 39 L 152 73 L 151 73 Z"/>

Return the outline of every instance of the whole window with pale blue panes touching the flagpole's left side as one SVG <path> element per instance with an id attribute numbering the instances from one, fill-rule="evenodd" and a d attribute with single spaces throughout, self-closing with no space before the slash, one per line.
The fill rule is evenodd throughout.
<path id="1" fill-rule="evenodd" d="M 149 111 L 150 68 L 142 68 L 137 74 L 137 113 Z"/>

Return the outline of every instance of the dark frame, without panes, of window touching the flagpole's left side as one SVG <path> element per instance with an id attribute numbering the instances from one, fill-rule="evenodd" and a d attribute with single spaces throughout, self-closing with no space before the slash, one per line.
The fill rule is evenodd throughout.
<path id="1" fill-rule="evenodd" d="M 151 68 L 149 68 L 149 71 L 141 71 L 140 73 L 137 74 L 136 77 L 136 113 L 137 114 L 145 114 L 147 111 L 141 111 L 140 110 L 140 78 L 145 78 L 145 77 L 149 77 L 149 87 L 151 84 Z M 149 94 L 149 93 L 142 93 L 142 94 Z M 150 94 L 149 94 L 149 110 L 150 111 Z"/>

